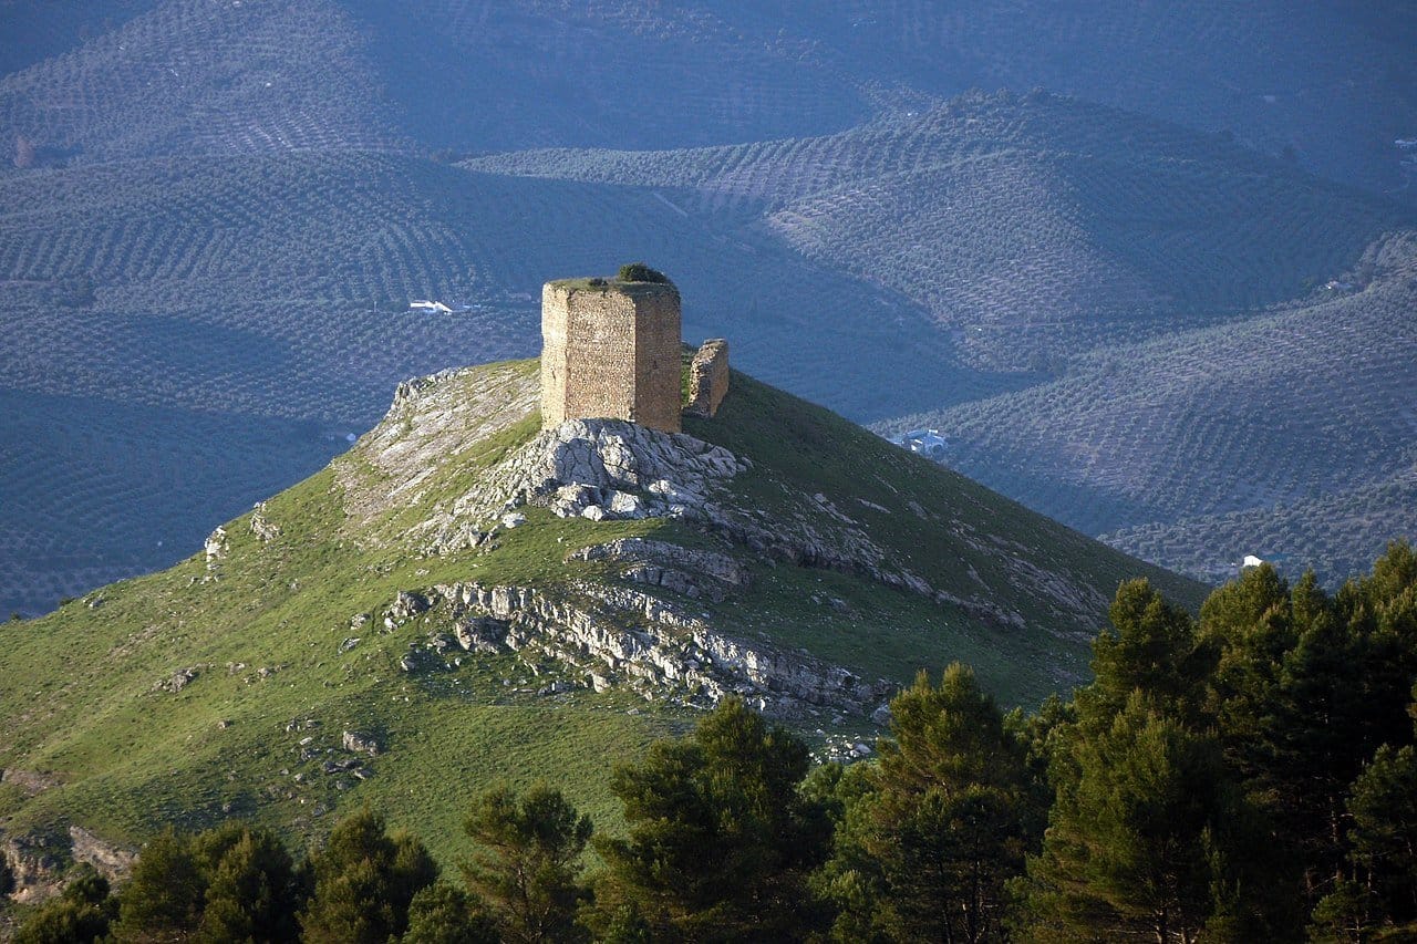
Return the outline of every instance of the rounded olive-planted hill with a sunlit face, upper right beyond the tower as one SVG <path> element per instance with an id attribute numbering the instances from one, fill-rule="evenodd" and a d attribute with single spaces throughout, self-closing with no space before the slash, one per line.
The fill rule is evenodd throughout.
<path id="1" fill-rule="evenodd" d="M 1047 94 L 962 96 L 825 137 L 536 150 L 465 166 L 687 190 L 900 293 L 983 370 L 1244 318 L 1417 215 L 1234 143 Z"/>

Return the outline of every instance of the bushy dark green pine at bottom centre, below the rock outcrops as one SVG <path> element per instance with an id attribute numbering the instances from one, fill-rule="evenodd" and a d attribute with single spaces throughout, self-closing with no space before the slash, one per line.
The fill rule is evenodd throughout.
<path id="1" fill-rule="evenodd" d="M 659 741 L 616 770 L 628 839 L 597 843 L 608 866 L 598 920 L 633 906 L 657 937 L 791 941 L 822 921 L 808 875 L 830 824 L 798 792 L 806 744 L 737 699 L 693 736 Z"/>

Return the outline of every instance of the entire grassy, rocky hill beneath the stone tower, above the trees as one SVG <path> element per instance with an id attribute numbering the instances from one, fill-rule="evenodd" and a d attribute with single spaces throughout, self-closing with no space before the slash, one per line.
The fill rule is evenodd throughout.
<path id="1" fill-rule="evenodd" d="M 398 797 L 442 843 L 497 777 L 606 814 L 605 760 L 726 692 L 840 743 L 921 666 L 1070 687 L 1125 577 L 1203 594 L 747 376 L 684 435 L 541 432 L 537 391 L 536 361 L 405 384 L 204 554 L 0 626 L 6 832 Z"/>

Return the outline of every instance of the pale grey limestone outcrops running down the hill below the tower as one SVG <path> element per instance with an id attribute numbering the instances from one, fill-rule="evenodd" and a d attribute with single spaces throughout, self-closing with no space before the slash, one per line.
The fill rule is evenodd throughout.
<path id="1" fill-rule="evenodd" d="M 439 472 L 468 462 L 479 441 L 536 417 L 534 391 L 530 371 L 444 371 L 401 384 L 385 421 L 337 466 L 351 522 L 415 510 L 394 540 L 428 558 L 495 553 L 533 509 L 588 522 L 673 520 L 700 539 L 686 547 L 612 537 L 564 556 L 568 566 L 608 568 L 604 580 L 574 578 L 568 567 L 564 580 L 536 587 L 472 580 L 408 587 L 383 615 L 385 632 L 414 618 L 429 629 L 427 639 L 410 644 L 401 661 L 405 672 L 442 665 L 449 652 L 536 652 L 565 665 L 575 685 L 595 690 L 628 686 L 701 707 L 733 693 L 784 717 L 829 709 L 879 720 L 891 683 L 863 679 L 743 626 L 726 631 L 693 604 L 731 600 L 751 587 L 754 568 L 785 564 L 863 577 L 1000 628 L 1024 625 L 1015 611 L 932 587 L 893 561 L 856 512 L 820 492 L 778 483 L 771 512 L 744 502 L 738 485 L 757 475 L 754 461 L 687 432 L 594 418 L 529 428 L 523 442 L 463 476 L 456 492 L 435 495 Z M 384 473 L 383 490 L 361 481 L 360 459 Z M 888 513 L 877 503 L 862 505 Z M 357 527 L 354 533 L 370 543 Z M 1071 590 L 1051 574 L 1030 575 L 1060 600 Z"/>

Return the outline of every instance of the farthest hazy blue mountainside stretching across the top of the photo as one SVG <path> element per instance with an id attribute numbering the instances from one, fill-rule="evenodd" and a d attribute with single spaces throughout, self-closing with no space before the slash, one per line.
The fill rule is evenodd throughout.
<path id="1" fill-rule="evenodd" d="M 1397 0 L 6 0 L 0 140 L 57 159 L 339 146 L 683 147 L 1043 86 L 1411 196 Z M 220 50 L 220 54 L 213 54 Z"/>

